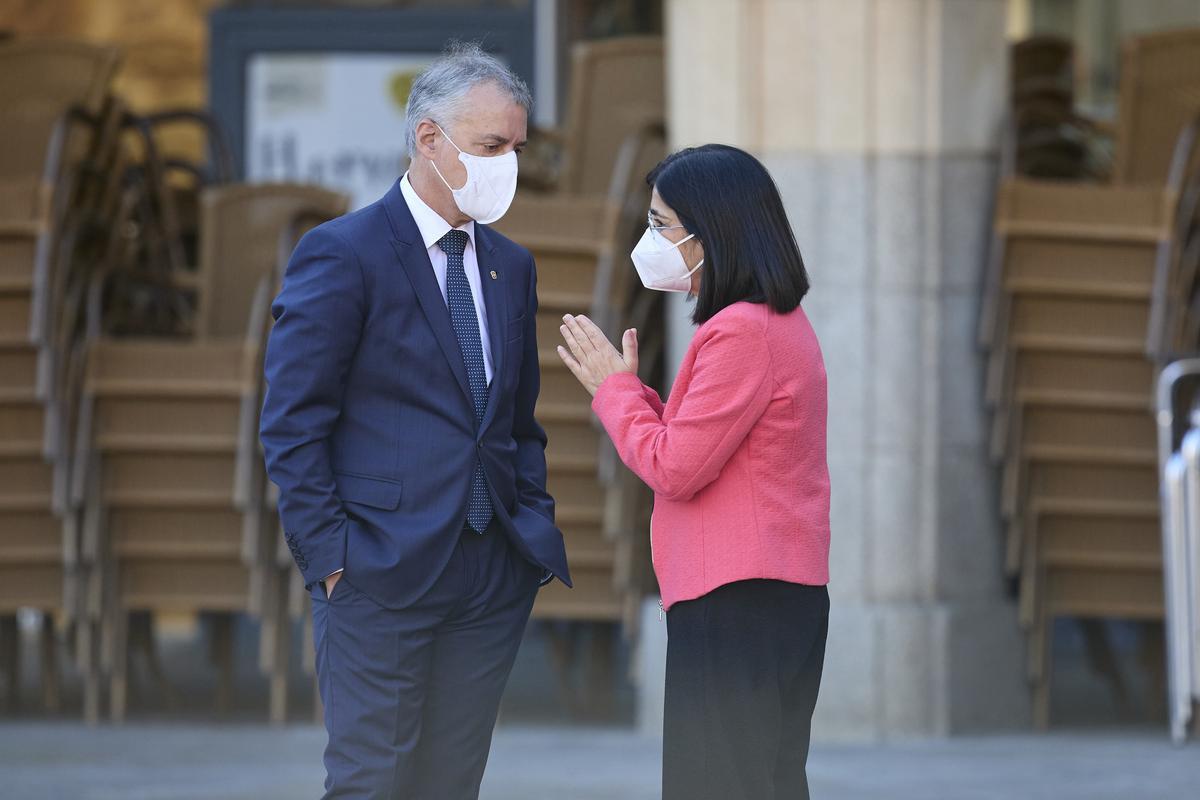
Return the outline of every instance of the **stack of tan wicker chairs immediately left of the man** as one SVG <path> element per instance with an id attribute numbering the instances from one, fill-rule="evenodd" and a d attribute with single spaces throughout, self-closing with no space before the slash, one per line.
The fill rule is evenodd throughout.
<path id="1" fill-rule="evenodd" d="M 271 717 L 286 715 L 288 658 L 278 643 L 289 626 L 287 572 L 275 557 L 257 437 L 263 345 L 281 235 L 298 215 L 328 219 L 346 205 L 311 186 L 206 188 L 197 266 L 175 279 L 194 295 L 184 335 L 114 336 L 97 319 L 89 324 L 72 499 L 84 551 L 95 559 L 88 594 L 114 720 L 126 708 L 131 614 L 170 610 L 216 614 L 222 704 L 232 680 L 230 615 L 257 616 Z"/>

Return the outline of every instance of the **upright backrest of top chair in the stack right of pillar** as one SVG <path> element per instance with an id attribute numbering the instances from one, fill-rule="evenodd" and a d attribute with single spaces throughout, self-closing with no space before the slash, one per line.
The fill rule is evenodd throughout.
<path id="1" fill-rule="evenodd" d="M 1175 140 L 1200 110 L 1200 29 L 1135 36 L 1124 44 L 1115 184 L 1166 180 Z"/>

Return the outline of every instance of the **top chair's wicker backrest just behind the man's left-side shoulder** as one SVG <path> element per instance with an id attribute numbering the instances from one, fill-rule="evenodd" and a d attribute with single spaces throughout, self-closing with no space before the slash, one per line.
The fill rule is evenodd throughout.
<path id="1" fill-rule="evenodd" d="M 200 197 L 197 338 L 244 336 L 254 290 L 275 270 L 280 234 L 299 211 L 346 213 L 344 194 L 298 184 L 233 184 Z"/>

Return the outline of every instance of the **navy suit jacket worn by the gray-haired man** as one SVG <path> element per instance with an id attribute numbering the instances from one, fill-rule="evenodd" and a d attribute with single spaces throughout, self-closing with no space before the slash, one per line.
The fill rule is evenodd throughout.
<path id="1" fill-rule="evenodd" d="M 397 181 L 310 231 L 271 314 L 260 437 L 280 517 L 310 587 L 338 569 L 403 608 L 449 563 L 481 458 L 498 522 L 528 560 L 570 585 L 546 434 L 529 251 L 475 225 L 494 365 L 478 423 L 450 312 Z"/>

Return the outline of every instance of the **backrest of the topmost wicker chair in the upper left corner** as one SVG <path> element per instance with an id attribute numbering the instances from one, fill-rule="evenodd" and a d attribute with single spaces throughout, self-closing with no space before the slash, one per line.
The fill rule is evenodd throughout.
<path id="1" fill-rule="evenodd" d="M 37 187 L 55 124 L 71 107 L 97 114 L 119 61 L 115 48 L 84 42 L 0 42 L 0 216 L 36 216 Z"/>

